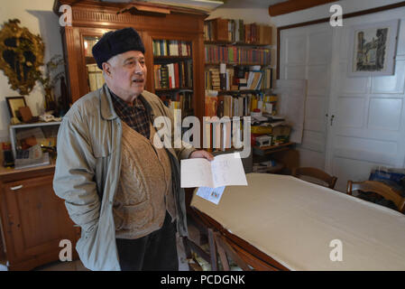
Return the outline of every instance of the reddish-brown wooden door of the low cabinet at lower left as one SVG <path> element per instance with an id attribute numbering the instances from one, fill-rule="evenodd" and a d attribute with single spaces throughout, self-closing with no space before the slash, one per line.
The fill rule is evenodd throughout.
<path id="1" fill-rule="evenodd" d="M 76 229 L 64 201 L 52 190 L 52 179 L 53 175 L 48 175 L 4 185 L 12 239 L 12 244 L 6 244 L 11 268 L 22 262 L 29 264 L 21 268 L 29 268 L 59 260 L 62 239 L 75 246 Z"/>

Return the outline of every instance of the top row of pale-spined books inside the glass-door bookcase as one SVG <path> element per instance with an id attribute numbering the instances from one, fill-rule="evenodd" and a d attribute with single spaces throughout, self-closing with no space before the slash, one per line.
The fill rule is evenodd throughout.
<path id="1" fill-rule="evenodd" d="M 153 55 L 191 57 L 191 43 L 177 40 L 154 40 Z"/>

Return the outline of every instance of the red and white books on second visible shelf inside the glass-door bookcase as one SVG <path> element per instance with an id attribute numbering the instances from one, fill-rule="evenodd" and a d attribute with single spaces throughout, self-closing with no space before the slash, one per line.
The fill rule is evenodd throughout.
<path id="1" fill-rule="evenodd" d="M 193 87 L 192 61 L 179 61 L 153 66 L 155 89 L 181 89 Z"/>

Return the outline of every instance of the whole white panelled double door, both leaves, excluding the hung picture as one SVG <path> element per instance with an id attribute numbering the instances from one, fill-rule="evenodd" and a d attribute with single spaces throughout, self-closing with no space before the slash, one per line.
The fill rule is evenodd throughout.
<path id="1" fill-rule="evenodd" d="M 367 180 L 375 166 L 404 167 L 405 8 L 281 31 L 281 79 L 308 79 L 300 165 L 348 180 Z M 349 78 L 353 25 L 400 19 L 395 75 Z"/>

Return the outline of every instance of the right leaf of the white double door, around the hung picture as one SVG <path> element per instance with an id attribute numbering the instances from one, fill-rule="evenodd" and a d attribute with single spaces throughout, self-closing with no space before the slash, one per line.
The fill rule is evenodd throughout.
<path id="1" fill-rule="evenodd" d="M 403 167 L 405 155 L 405 9 L 344 20 L 334 28 L 334 59 L 327 141 L 328 172 L 338 177 L 336 189 L 345 191 L 348 180 L 367 180 L 375 166 Z M 348 55 L 353 25 L 400 19 L 393 76 L 349 78 Z M 330 119 L 329 119 L 330 120 Z"/>

